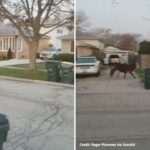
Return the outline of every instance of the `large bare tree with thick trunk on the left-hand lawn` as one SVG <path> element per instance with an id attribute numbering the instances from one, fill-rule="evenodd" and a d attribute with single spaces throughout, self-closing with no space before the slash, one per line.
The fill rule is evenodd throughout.
<path id="1" fill-rule="evenodd" d="M 1 0 L 1 16 L 9 20 L 29 45 L 29 70 L 36 69 L 36 53 L 42 36 L 73 19 L 73 0 Z M 49 30 L 40 34 L 41 28 Z"/>

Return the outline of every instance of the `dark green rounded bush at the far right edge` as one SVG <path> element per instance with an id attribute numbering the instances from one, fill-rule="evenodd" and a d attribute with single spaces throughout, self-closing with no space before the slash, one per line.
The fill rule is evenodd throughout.
<path id="1" fill-rule="evenodd" d="M 140 43 L 139 54 L 150 54 L 150 42 L 143 41 Z"/>

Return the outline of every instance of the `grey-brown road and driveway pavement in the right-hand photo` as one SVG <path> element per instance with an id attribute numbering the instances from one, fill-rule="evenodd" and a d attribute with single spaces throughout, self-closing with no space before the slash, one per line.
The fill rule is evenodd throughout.
<path id="1" fill-rule="evenodd" d="M 77 150 L 149 150 L 150 91 L 109 70 L 77 79 Z"/>

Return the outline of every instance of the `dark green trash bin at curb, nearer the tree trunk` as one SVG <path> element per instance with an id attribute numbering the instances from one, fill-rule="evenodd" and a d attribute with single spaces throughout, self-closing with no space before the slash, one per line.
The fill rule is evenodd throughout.
<path id="1" fill-rule="evenodd" d="M 60 81 L 60 66 L 61 66 L 60 61 L 52 60 L 46 62 L 49 81 L 54 81 L 54 82 Z"/>

